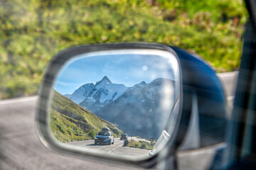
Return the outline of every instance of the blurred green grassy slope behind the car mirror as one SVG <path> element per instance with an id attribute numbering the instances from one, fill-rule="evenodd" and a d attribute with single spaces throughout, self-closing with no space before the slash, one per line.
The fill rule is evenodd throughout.
<path id="1" fill-rule="evenodd" d="M 37 94 L 50 59 L 73 45 L 161 42 L 232 71 L 246 19 L 242 0 L 2 0 L 0 99 Z"/>

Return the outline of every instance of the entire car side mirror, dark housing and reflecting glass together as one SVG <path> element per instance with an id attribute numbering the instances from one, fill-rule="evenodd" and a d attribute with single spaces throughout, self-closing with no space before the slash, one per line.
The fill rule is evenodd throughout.
<path id="1" fill-rule="evenodd" d="M 39 96 L 38 136 L 55 152 L 151 167 L 178 149 L 225 138 L 220 81 L 200 57 L 176 47 L 71 47 L 48 65 Z M 198 129 L 188 137 L 191 122 Z"/>

